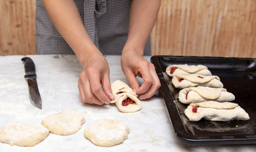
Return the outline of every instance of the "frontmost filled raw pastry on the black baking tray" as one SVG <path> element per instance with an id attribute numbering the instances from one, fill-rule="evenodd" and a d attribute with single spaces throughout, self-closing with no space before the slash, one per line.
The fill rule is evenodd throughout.
<path id="1" fill-rule="evenodd" d="M 243 108 L 236 103 L 229 102 L 204 101 L 202 103 L 191 103 L 184 113 L 193 122 L 197 122 L 201 118 L 221 122 L 250 119 L 248 113 Z"/>

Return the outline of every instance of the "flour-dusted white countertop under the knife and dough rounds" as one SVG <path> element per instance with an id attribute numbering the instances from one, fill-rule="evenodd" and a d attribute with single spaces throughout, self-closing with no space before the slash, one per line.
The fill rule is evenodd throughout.
<path id="1" fill-rule="evenodd" d="M 141 102 L 141 110 L 122 113 L 115 104 L 89 105 L 80 101 L 78 79 L 82 66 L 76 56 L 29 55 L 36 65 L 43 110 L 31 105 L 24 79 L 24 56 L 0 56 L 0 127 L 11 122 L 40 124 L 41 120 L 66 108 L 83 113 L 85 124 L 71 136 L 49 134 L 33 147 L 10 146 L 0 143 L 0 151 L 256 151 L 255 145 L 187 146 L 176 138 L 159 92 Z M 150 56 L 145 57 L 148 61 Z M 110 65 L 111 82 L 129 84 L 120 67 L 120 56 L 106 56 Z M 141 79 L 138 79 L 141 83 Z M 121 120 L 130 128 L 122 144 L 103 148 L 85 139 L 85 128 L 97 119 Z"/>

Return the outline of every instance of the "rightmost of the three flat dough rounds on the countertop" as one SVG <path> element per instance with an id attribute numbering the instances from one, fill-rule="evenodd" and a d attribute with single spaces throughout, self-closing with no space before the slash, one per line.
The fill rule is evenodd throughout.
<path id="1" fill-rule="evenodd" d="M 84 136 L 97 146 L 109 147 L 127 139 L 129 127 L 124 122 L 111 119 L 100 119 L 90 124 Z"/>

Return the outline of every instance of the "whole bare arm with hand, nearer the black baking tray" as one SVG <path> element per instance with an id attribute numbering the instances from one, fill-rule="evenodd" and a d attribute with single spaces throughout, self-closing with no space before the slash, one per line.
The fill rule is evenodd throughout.
<path id="1" fill-rule="evenodd" d="M 139 99 L 150 98 L 160 87 L 160 81 L 152 63 L 143 58 L 148 36 L 157 20 L 160 0 L 134 0 L 131 4 L 129 33 L 121 56 L 121 66 L 132 89 Z M 139 87 L 136 76 L 143 79 Z"/>

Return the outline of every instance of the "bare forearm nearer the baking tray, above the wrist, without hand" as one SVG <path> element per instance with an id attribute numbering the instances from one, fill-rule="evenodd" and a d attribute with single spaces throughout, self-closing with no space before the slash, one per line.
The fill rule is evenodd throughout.
<path id="1" fill-rule="evenodd" d="M 134 0 L 131 4 L 128 39 L 124 50 L 137 50 L 142 56 L 146 41 L 157 20 L 160 0 Z"/>

